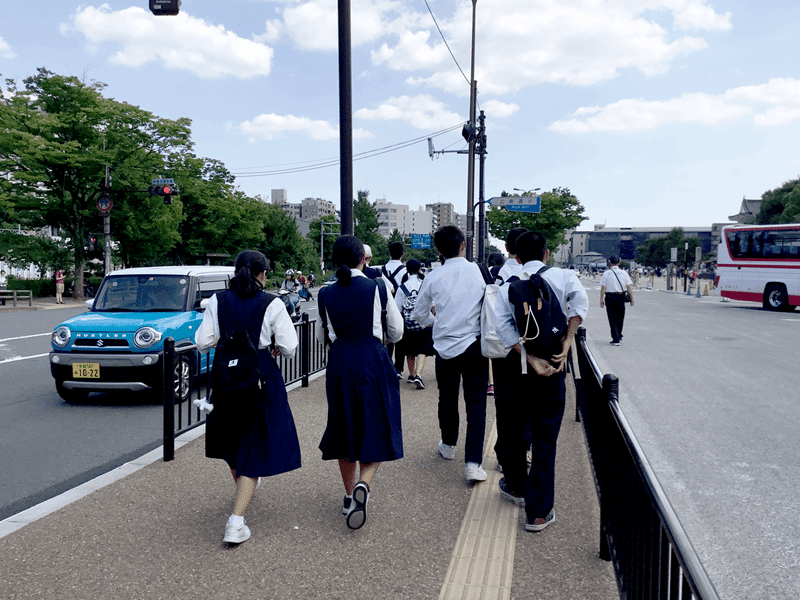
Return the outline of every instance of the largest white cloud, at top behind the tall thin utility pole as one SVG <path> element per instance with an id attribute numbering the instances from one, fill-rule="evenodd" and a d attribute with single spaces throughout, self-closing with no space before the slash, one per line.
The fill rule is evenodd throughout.
<path id="1" fill-rule="evenodd" d="M 434 7 L 435 10 L 436 7 Z M 645 11 L 672 13 L 681 29 L 731 27 L 703 0 L 482 0 L 477 4 L 476 75 L 484 93 L 502 94 L 539 83 L 592 85 L 633 68 L 647 75 L 664 72 L 679 56 L 702 50 L 700 37 L 675 34 Z M 449 19 L 437 20 L 465 73 L 470 69 L 472 3 L 461 2 Z M 419 20 L 420 30 L 384 42 L 373 62 L 390 69 L 429 71 L 409 83 L 466 95 L 441 36 Z"/>

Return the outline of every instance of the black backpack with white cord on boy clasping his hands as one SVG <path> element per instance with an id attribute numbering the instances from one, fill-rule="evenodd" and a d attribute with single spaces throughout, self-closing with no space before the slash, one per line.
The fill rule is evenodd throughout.
<path id="1" fill-rule="evenodd" d="M 567 317 L 561 304 L 542 273 L 542 267 L 530 279 L 509 280 L 508 301 L 514 307 L 514 321 L 525 350 L 538 358 L 550 360 L 561 351 L 561 341 L 567 333 Z"/>

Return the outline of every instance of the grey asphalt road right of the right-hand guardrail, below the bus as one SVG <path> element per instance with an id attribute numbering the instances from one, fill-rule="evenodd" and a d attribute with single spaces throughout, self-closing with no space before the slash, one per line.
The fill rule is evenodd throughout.
<path id="1" fill-rule="evenodd" d="M 609 346 L 585 283 L 590 348 L 721 598 L 800 598 L 800 311 L 638 291 Z"/>

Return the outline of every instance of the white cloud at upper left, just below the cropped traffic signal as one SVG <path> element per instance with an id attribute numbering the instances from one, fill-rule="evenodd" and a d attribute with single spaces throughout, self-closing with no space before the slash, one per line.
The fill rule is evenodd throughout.
<path id="1" fill-rule="evenodd" d="M 62 31 L 68 28 L 62 24 Z M 167 68 L 187 69 L 199 77 L 247 79 L 269 74 L 272 64 L 272 48 L 186 12 L 165 18 L 138 7 L 112 11 L 107 5 L 88 6 L 75 13 L 72 28 L 95 50 L 102 44 L 121 45 L 109 60 L 131 67 L 161 61 Z"/>

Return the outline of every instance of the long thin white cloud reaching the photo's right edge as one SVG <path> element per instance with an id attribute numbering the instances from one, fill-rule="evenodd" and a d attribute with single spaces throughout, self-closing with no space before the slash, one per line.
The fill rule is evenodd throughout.
<path id="1" fill-rule="evenodd" d="M 786 125 L 800 120 L 800 80 L 771 79 L 763 85 L 743 86 L 717 96 L 694 93 L 666 101 L 626 99 L 604 107 L 582 107 L 572 118 L 556 121 L 552 131 L 639 131 L 667 123 L 716 125 L 740 119 L 769 105 L 753 117 L 760 127 Z"/>

